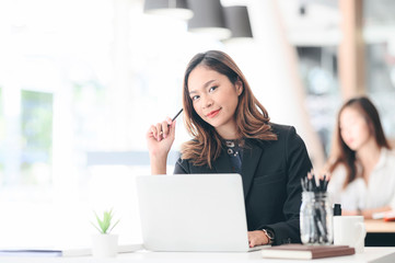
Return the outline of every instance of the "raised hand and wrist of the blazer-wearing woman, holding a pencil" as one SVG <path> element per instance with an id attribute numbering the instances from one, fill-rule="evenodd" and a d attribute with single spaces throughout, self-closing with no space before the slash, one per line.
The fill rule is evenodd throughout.
<path id="1" fill-rule="evenodd" d="M 152 125 L 147 132 L 147 144 L 151 159 L 152 174 L 166 173 L 166 161 L 175 138 L 175 122 L 167 117 L 162 123 Z"/>

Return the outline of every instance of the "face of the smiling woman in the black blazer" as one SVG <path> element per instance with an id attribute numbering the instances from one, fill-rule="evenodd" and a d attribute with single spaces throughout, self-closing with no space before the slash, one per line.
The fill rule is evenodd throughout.
<path id="1" fill-rule="evenodd" d="M 226 76 L 197 66 L 189 75 L 188 92 L 196 113 L 222 137 L 235 132 L 234 113 L 243 92 L 241 81 L 232 84 Z"/>

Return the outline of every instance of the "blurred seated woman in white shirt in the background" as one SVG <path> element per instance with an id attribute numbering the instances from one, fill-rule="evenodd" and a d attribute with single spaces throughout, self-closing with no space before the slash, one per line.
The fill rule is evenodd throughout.
<path id="1" fill-rule="evenodd" d="M 395 152 L 391 151 L 379 113 L 364 96 L 339 111 L 335 144 L 328 162 L 328 192 L 344 215 L 395 209 Z"/>

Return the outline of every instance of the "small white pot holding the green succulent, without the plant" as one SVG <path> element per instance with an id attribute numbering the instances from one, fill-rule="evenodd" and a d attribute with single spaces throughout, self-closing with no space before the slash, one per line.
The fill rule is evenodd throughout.
<path id="1" fill-rule="evenodd" d="M 113 258 L 118 253 L 118 235 L 92 235 L 92 255 L 94 258 Z"/>

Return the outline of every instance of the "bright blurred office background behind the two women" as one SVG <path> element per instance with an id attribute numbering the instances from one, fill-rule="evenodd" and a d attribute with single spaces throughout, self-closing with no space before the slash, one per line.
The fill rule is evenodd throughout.
<path id="1" fill-rule="evenodd" d="M 199 52 L 230 54 L 271 121 L 297 127 L 316 169 L 352 95 L 368 94 L 395 138 L 395 1 L 217 3 L 224 28 L 204 33 L 143 0 L 0 0 L 0 245 L 88 243 L 93 210 L 112 207 L 120 241 L 140 242 L 133 180 L 150 173 L 146 132 L 182 107 Z M 248 16 L 229 11 L 239 5 Z M 189 139 L 177 122 L 170 173 Z"/>

